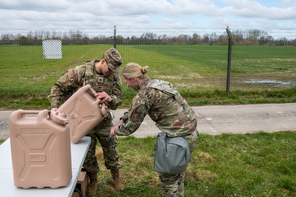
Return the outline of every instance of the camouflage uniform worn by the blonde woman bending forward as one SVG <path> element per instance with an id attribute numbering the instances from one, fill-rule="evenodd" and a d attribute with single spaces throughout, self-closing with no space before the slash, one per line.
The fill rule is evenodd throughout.
<path id="1" fill-rule="evenodd" d="M 194 150 L 198 138 L 197 116 L 173 84 L 146 76 L 129 110 L 120 118 L 123 124 L 115 129 L 115 134 L 127 136 L 134 133 L 147 114 L 169 137 L 186 135 L 190 151 Z M 159 174 L 163 196 L 184 195 L 184 174 L 185 170 L 177 175 Z"/>

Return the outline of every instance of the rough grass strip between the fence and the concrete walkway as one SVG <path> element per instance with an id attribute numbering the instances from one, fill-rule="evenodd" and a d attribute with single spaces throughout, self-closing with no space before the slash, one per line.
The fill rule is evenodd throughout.
<path id="1" fill-rule="evenodd" d="M 223 89 L 179 89 L 181 95 L 190 106 L 202 105 L 247 105 L 265 103 L 296 102 L 295 88 L 284 90 L 262 91 L 230 91 L 226 94 Z M 136 92 L 123 84 L 122 104 L 118 107 L 127 109 Z M 51 105 L 46 95 L 34 94 L 0 94 L 0 110 L 50 110 Z"/>

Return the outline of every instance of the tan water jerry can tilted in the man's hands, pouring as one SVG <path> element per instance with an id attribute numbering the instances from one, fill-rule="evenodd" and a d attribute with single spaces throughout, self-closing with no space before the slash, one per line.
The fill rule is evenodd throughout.
<path id="1" fill-rule="evenodd" d="M 57 112 L 66 113 L 69 119 L 70 139 L 76 144 L 104 117 L 107 117 L 109 109 L 106 103 L 100 103 L 101 99 L 96 99 L 96 92 L 91 85 L 86 85 L 78 89 Z"/>

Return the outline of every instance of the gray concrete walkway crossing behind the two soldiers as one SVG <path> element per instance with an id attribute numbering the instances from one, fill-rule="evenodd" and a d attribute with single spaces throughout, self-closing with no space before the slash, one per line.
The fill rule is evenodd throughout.
<path id="1" fill-rule="evenodd" d="M 296 103 L 194 107 L 199 133 L 251 133 L 256 131 L 296 131 Z M 112 110 L 117 123 L 125 109 Z M 0 111 L 0 139 L 9 138 L 9 116 L 12 111 Z M 155 136 L 160 130 L 147 115 L 136 137 Z"/>

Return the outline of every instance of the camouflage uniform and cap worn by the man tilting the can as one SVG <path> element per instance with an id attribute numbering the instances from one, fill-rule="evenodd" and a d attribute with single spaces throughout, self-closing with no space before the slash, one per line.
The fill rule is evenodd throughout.
<path id="1" fill-rule="evenodd" d="M 112 49 L 112 48 L 111 48 Z M 110 51 L 110 50 L 108 50 Z M 106 53 L 108 52 L 106 51 Z M 108 66 L 112 71 L 114 62 L 110 59 L 110 54 L 104 54 L 103 58 L 108 62 Z M 112 52 L 113 53 L 113 52 Z M 119 53 L 118 53 L 119 54 Z M 112 54 L 113 55 L 113 54 Z M 121 57 L 114 57 L 122 63 Z M 108 61 L 109 60 L 109 61 Z M 121 104 L 122 97 L 122 82 L 119 74 L 114 73 L 110 76 L 99 74 L 95 70 L 95 63 L 99 60 L 88 61 L 81 66 L 76 66 L 69 69 L 68 72 L 63 74 L 56 84 L 53 85 L 50 95 L 47 97 L 51 102 L 52 108 L 59 107 L 61 100 L 65 102 L 75 91 L 84 85 L 90 84 L 91 88 L 97 93 L 106 92 L 112 97 L 112 102 L 108 103 L 108 109 L 115 110 Z M 121 65 L 116 65 L 119 67 Z M 112 65 L 111 65 L 112 64 Z M 94 129 L 92 129 L 86 136 L 91 137 L 91 144 L 86 154 L 86 159 L 83 167 L 86 171 L 94 173 L 99 172 L 99 165 L 95 156 L 97 139 L 102 145 L 103 156 L 105 159 L 105 166 L 107 169 L 121 169 L 118 164 L 118 153 L 116 151 L 117 139 L 115 136 L 109 136 L 112 127 L 112 116 L 109 113 Z"/>

